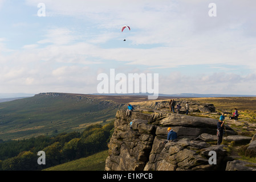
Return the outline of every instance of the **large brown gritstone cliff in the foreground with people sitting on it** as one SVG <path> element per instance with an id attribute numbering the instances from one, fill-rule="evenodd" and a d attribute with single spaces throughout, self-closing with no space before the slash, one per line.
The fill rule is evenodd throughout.
<path id="1" fill-rule="evenodd" d="M 132 129 L 129 123 L 132 121 Z M 109 156 L 105 170 L 225 170 L 231 158 L 225 145 L 209 144 L 217 140 L 217 119 L 166 113 L 160 110 L 116 113 L 115 131 L 108 144 Z M 177 132 L 178 142 L 162 143 L 167 128 Z M 226 126 L 229 137 L 236 142 L 250 142 L 251 138 L 237 135 Z M 214 138 L 215 137 L 215 138 Z M 217 164 L 209 164 L 209 152 L 217 154 Z M 237 164 L 237 163 L 234 163 Z M 232 169 L 229 165 L 229 169 Z"/>

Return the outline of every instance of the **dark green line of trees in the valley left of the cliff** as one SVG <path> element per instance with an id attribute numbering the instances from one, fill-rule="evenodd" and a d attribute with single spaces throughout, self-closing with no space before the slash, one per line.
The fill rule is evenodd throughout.
<path id="1" fill-rule="evenodd" d="M 113 121 L 107 125 L 86 127 L 83 133 L 62 133 L 56 137 L 36 138 L 0 143 L 0 170 L 34 171 L 106 150 L 113 133 Z M 39 165 L 38 151 L 46 154 L 46 164 Z M 18 153 L 18 154 L 17 154 Z"/>

